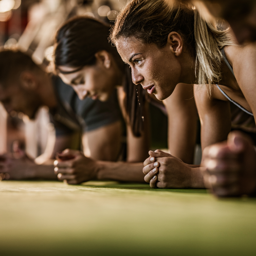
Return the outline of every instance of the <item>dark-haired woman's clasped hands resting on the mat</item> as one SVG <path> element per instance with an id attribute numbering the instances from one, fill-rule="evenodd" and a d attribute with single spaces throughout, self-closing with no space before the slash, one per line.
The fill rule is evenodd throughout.
<path id="1" fill-rule="evenodd" d="M 60 181 L 79 184 L 97 178 L 96 161 L 84 156 L 78 150 L 65 149 L 56 154 L 55 173 Z"/>

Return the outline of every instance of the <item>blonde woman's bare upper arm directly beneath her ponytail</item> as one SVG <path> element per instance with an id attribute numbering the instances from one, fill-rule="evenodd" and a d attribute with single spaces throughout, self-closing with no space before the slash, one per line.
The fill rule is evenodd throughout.
<path id="1" fill-rule="evenodd" d="M 218 90 L 215 87 L 213 90 Z M 194 86 L 194 95 L 201 122 L 202 150 L 209 145 L 227 139 L 231 129 L 229 101 L 207 95 L 206 87 Z"/>

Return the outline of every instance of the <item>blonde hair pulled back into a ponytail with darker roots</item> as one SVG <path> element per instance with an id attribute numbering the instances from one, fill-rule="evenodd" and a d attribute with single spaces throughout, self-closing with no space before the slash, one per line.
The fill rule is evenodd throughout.
<path id="1" fill-rule="evenodd" d="M 155 43 L 162 48 L 170 32 L 179 33 L 190 55 L 195 59 L 196 81 L 207 85 L 209 95 L 212 84 L 221 79 L 221 49 L 233 45 L 229 29 L 223 30 L 217 22 L 206 21 L 190 4 L 165 0 L 132 0 L 119 13 L 111 28 L 113 44 L 120 37 L 135 37 L 143 43 Z"/>

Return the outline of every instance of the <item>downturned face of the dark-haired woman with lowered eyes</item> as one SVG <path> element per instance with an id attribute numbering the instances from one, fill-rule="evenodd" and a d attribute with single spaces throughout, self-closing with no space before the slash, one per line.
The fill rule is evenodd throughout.
<path id="1" fill-rule="evenodd" d="M 110 60 L 107 63 L 110 63 Z M 63 72 L 77 70 L 67 66 L 59 66 L 58 69 Z M 104 59 L 96 58 L 95 65 L 85 66 L 74 73 L 58 75 L 64 83 L 73 87 L 80 100 L 91 97 L 94 100 L 106 101 L 117 85 L 115 73 L 111 67 L 106 67 Z"/>

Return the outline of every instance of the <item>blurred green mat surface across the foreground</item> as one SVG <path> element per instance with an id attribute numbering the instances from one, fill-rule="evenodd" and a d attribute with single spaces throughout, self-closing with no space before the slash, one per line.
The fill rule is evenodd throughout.
<path id="1" fill-rule="evenodd" d="M 0 182 L 0 255 L 256 255 L 256 199 L 147 184 Z"/>

